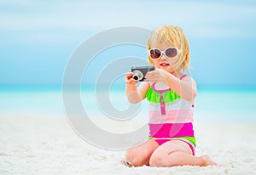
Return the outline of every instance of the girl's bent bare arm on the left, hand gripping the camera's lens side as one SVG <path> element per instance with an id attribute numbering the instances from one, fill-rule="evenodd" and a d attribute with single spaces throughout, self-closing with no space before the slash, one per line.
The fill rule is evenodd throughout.
<path id="1" fill-rule="evenodd" d="M 140 86 L 137 88 L 138 81 L 132 78 L 133 74 L 128 73 L 125 75 L 125 83 L 126 83 L 126 97 L 131 104 L 137 104 L 146 97 L 146 93 L 148 88 L 150 87 L 148 82 L 142 82 Z"/>

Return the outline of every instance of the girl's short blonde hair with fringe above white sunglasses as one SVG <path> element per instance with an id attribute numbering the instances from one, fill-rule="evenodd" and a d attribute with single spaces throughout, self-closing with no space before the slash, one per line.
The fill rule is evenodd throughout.
<path id="1" fill-rule="evenodd" d="M 182 28 L 173 25 L 164 25 L 152 31 L 148 39 L 148 51 L 155 42 L 159 42 L 161 44 L 171 42 L 173 46 L 180 50 L 180 59 L 178 59 L 176 64 L 173 65 L 174 68 L 181 68 L 183 71 L 187 71 L 189 69 L 189 41 Z M 153 61 L 150 59 L 149 55 L 148 62 L 150 65 L 153 65 Z"/>

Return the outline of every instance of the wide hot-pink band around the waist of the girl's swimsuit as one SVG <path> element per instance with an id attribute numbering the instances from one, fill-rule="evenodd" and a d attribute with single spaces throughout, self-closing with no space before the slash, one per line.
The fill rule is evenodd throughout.
<path id="1" fill-rule="evenodd" d="M 188 123 L 149 123 L 149 134 L 154 138 L 194 137 L 193 125 Z"/>

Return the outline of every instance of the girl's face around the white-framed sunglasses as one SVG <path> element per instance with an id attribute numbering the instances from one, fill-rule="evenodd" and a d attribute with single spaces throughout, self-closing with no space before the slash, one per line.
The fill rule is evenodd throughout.
<path id="1" fill-rule="evenodd" d="M 172 45 L 172 43 L 160 43 L 155 42 L 152 44 L 152 48 L 159 48 L 161 51 L 164 51 L 166 48 L 175 47 Z M 156 68 L 165 70 L 169 73 L 176 74 L 177 71 L 173 65 L 177 62 L 177 60 L 180 59 L 180 55 L 177 55 L 175 59 L 169 59 L 166 57 L 165 54 L 162 54 L 160 59 L 152 59 L 152 62 Z"/>

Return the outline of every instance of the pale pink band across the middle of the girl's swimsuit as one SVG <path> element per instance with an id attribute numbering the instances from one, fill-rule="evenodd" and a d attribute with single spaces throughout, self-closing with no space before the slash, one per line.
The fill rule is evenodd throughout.
<path id="1" fill-rule="evenodd" d="M 149 110 L 149 123 L 186 123 L 193 122 L 193 110 L 167 110 L 162 116 L 160 110 Z"/>

